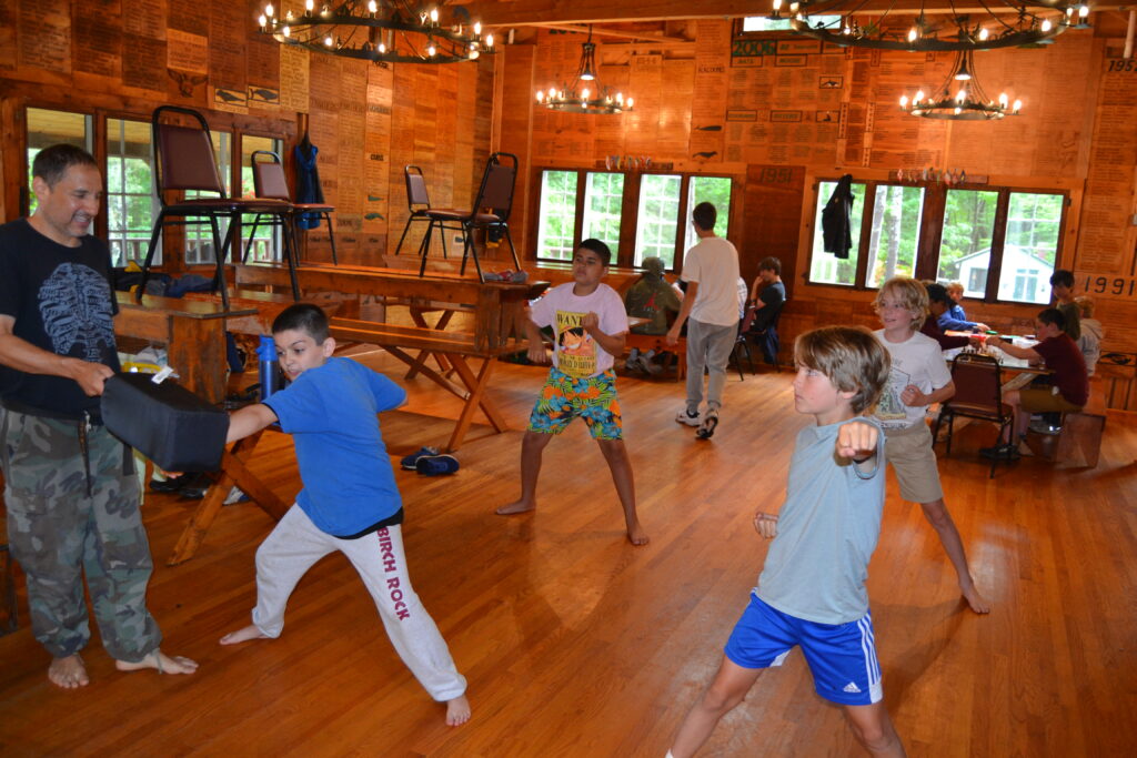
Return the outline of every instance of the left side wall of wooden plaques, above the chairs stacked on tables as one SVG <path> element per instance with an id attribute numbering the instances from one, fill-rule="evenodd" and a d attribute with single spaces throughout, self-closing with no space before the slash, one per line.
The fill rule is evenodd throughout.
<path id="1" fill-rule="evenodd" d="M 0 218 L 18 213 L 24 105 L 141 119 L 158 105 L 184 105 L 215 127 L 283 136 L 288 149 L 306 119 L 325 200 L 337 208 L 341 261 L 381 263 L 398 242 L 406 164 L 422 167 L 434 205 L 471 202 L 489 148 L 490 57 L 376 66 L 308 53 L 260 34 L 259 5 L 0 0 L 0 97 L 13 127 Z M 412 252 L 420 239 L 421 230 L 408 235 Z M 308 255 L 330 257 L 326 227 L 308 234 Z"/>

